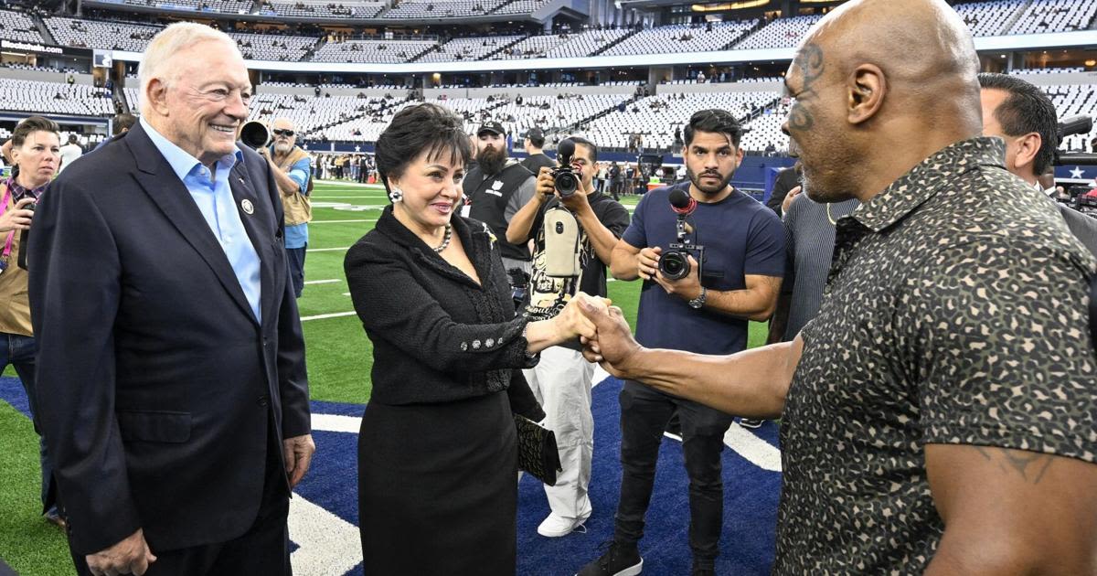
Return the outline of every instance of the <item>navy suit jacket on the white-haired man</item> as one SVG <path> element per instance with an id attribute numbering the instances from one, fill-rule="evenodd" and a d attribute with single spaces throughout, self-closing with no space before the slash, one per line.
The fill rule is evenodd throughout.
<path id="1" fill-rule="evenodd" d="M 250 149 L 230 183 L 261 261 L 261 325 L 139 125 L 73 163 L 35 212 L 38 418 L 76 553 L 138 528 L 154 554 L 242 534 L 267 451 L 281 461 L 280 439 L 309 433 L 278 187 Z"/>

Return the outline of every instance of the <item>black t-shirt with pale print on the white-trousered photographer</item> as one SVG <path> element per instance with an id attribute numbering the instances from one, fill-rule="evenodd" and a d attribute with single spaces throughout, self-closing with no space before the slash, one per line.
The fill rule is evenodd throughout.
<path id="1" fill-rule="evenodd" d="M 624 234 L 629 227 L 629 212 L 620 202 L 600 192 L 588 195 L 587 202 L 595 211 L 598 222 L 609 228 L 613 236 L 620 238 Z M 581 273 L 577 278 L 553 278 L 545 274 L 543 223 L 545 213 L 557 206 L 563 207 L 555 197 L 546 202 L 530 227 L 530 237 L 534 238 L 533 273 L 530 279 L 530 304 L 525 310 L 531 321 L 556 316 L 577 291 L 595 296 L 606 295 L 606 264 L 598 259 L 595 247 L 581 225 L 579 226 L 579 245 L 583 247 L 579 255 Z"/>

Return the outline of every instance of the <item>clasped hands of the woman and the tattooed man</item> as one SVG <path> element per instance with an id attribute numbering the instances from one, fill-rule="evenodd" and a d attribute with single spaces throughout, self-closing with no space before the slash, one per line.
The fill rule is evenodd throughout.
<path id="1" fill-rule="evenodd" d="M 615 377 L 627 379 L 629 361 L 641 346 L 633 338 L 621 308 L 611 304 L 608 298 L 579 292 L 554 319 L 562 336 L 568 336 L 565 339 L 579 337 L 587 361 L 598 362 Z"/>

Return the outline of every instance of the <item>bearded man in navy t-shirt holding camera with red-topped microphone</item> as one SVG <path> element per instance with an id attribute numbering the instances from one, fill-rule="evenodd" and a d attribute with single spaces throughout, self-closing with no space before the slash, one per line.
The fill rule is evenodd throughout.
<path id="1" fill-rule="evenodd" d="M 644 346 L 730 354 L 746 348 L 748 320 L 765 321 L 773 312 L 784 275 L 784 229 L 773 211 L 731 185 L 743 160 L 743 128 L 734 115 L 702 110 L 685 136 L 688 180 L 644 195 L 613 248 L 610 270 L 618 280 L 644 281 L 636 315 L 636 339 Z M 679 280 L 658 269 L 661 255 L 679 241 L 672 192 L 695 202 L 686 216 L 687 237 L 704 246 L 703 270 L 693 252 L 689 273 Z M 724 502 L 720 452 L 733 417 L 629 380 L 620 400 L 622 476 L 613 543 L 579 575 L 640 574 L 636 544 L 663 431 L 676 410 L 690 479 L 692 574 L 714 574 Z"/>

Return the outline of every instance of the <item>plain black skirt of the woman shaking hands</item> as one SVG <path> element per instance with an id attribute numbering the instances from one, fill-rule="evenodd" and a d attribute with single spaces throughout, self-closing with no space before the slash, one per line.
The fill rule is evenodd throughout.
<path id="1" fill-rule="evenodd" d="M 512 576 L 518 467 L 507 393 L 370 403 L 358 442 L 366 576 Z"/>

